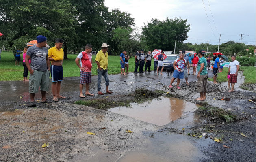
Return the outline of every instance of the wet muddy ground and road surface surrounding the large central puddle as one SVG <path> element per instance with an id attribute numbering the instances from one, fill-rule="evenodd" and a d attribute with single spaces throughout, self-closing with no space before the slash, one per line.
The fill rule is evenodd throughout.
<path id="1" fill-rule="evenodd" d="M 78 96 L 79 77 L 65 78 L 61 94 L 67 99 L 44 104 L 40 103 L 40 94 L 37 94 L 39 103 L 34 108 L 26 106 L 29 100 L 27 82 L 2 81 L 0 161 L 255 161 L 255 104 L 248 101 L 255 99 L 255 92 L 238 88 L 243 83 L 241 73 L 236 91 L 232 93 L 227 92 L 225 84 L 214 85 L 208 81 L 208 94 L 204 102 L 195 101 L 199 96 L 195 76 L 189 75 L 190 86 L 182 80 L 182 90 L 167 89 L 171 77 L 154 72 L 109 75 L 113 94 L 86 98 Z M 91 93 L 96 94 L 96 86 L 97 76 L 93 76 Z M 115 102 L 110 105 L 115 107 L 127 101 L 137 101 L 138 96 L 135 97 L 134 92 L 138 88 L 153 92 L 161 90 L 169 92 L 162 96 L 222 108 L 232 114 L 234 121 L 227 122 L 220 117 L 209 116 L 207 112 L 195 111 L 164 126 L 157 126 L 126 115 L 95 109 L 93 105 L 74 104 L 78 100 L 97 100 Z M 102 92 L 105 91 L 103 79 Z M 145 95 L 143 100 L 155 97 L 155 94 Z M 230 98 L 230 101 L 221 100 L 222 97 Z M 52 99 L 50 91 L 47 98 Z M 97 108 L 97 105 L 94 107 Z M 201 137 L 202 133 L 206 133 L 206 136 Z M 213 141 L 215 137 L 221 141 Z M 43 148 L 44 143 L 48 147 Z"/>

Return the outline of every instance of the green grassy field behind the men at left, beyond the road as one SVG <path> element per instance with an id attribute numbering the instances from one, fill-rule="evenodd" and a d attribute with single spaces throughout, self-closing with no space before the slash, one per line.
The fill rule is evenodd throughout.
<path id="1" fill-rule="evenodd" d="M 63 62 L 63 77 L 80 76 L 80 70 L 76 65 L 76 55 L 67 55 L 69 59 Z M 97 64 L 95 62 L 96 55 L 93 55 L 92 75 L 97 75 Z M 22 59 L 23 60 L 23 59 Z M 154 70 L 154 61 L 151 62 L 151 70 Z M 129 59 L 129 72 L 134 72 L 135 62 L 134 58 Z M 144 66 L 145 68 L 145 66 Z M 139 70 L 139 68 L 138 68 Z M 2 52 L 0 60 L 0 81 L 16 81 L 23 80 L 23 66 L 22 61 L 20 66 L 15 66 L 14 56 L 12 52 Z M 120 56 L 108 56 L 108 74 L 117 74 L 121 71 Z M 28 75 L 29 77 L 29 75 Z"/>

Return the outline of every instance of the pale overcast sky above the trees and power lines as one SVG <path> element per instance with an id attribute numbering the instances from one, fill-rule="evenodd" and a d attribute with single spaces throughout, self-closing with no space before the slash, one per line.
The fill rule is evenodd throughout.
<path id="1" fill-rule="evenodd" d="M 255 0 L 105 0 L 104 3 L 109 10 L 118 8 L 130 13 L 137 28 L 152 18 L 188 19 L 190 31 L 185 43 L 209 40 L 210 44 L 218 44 L 220 34 L 221 43 L 240 42 L 239 34 L 244 34 L 242 42 L 255 45 Z"/>

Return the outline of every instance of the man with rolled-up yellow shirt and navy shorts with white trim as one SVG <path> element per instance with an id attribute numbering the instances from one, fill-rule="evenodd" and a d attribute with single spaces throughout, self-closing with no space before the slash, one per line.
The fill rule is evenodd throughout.
<path id="1" fill-rule="evenodd" d="M 52 94 L 54 101 L 58 101 L 58 98 L 65 99 L 66 97 L 60 95 L 61 81 L 63 80 L 63 56 L 64 52 L 61 48 L 63 45 L 63 40 L 57 38 L 55 40 L 55 46 L 48 50 L 49 60 L 51 62 L 51 76 L 52 76 Z"/>

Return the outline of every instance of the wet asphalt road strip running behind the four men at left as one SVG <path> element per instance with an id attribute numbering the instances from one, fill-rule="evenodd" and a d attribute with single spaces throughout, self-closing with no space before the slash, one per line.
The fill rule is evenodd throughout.
<path id="1" fill-rule="evenodd" d="M 208 70 L 208 77 L 212 77 L 213 73 L 211 70 Z M 151 87 L 152 89 L 158 89 L 160 85 L 156 83 L 161 82 L 163 85 L 168 86 L 172 75 L 167 76 L 166 72 L 163 71 L 163 75 L 156 75 L 154 71 L 147 73 L 129 73 L 128 75 L 108 75 L 110 79 L 109 89 L 113 91 L 113 94 L 124 94 L 126 92 L 133 92 L 136 88 L 140 87 Z M 188 75 L 189 82 L 197 81 L 196 75 Z M 46 92 L 46 98 L 52 100 L 52 91 L 51 91 L 51 81 L 49 79 L 50 86 L 49 91 Z M 63 100 L 66 102 L 73 102 L 80 100 L 79 98 L 79 82 L 80 77 L 66 77 L 61 83 L 61 95 L 66 96 L 67 99 Z M 185 82 L 185 79 L 181 79 L 181 82 Z M 175 83 L 175 82 L 174 82 Z M 27 102 L 29 98 L 29 82 L 25 81 L 1 81 L 0 82 L 0 110 L 10 107 L 10 104 L 17 102 Z M 182 88 L 182 87 L 181 87 Z M 101 91 L 106 93 L 104 77 L 102 77 Z M 85 92 L 85 87 L 83 92 Z M 95 96 L 90 96 L 90 98 L 102 98 L 105 95 L 97 95 L 97 76 L 92 76 L 89 92 Z M 127 93 L 126 93 L 127 94 Z M 22 97 L 22 98 L 20 98 Z M 41 100 L 41 94 L 38 92 L 35 95 L 35 100 Z"/>

